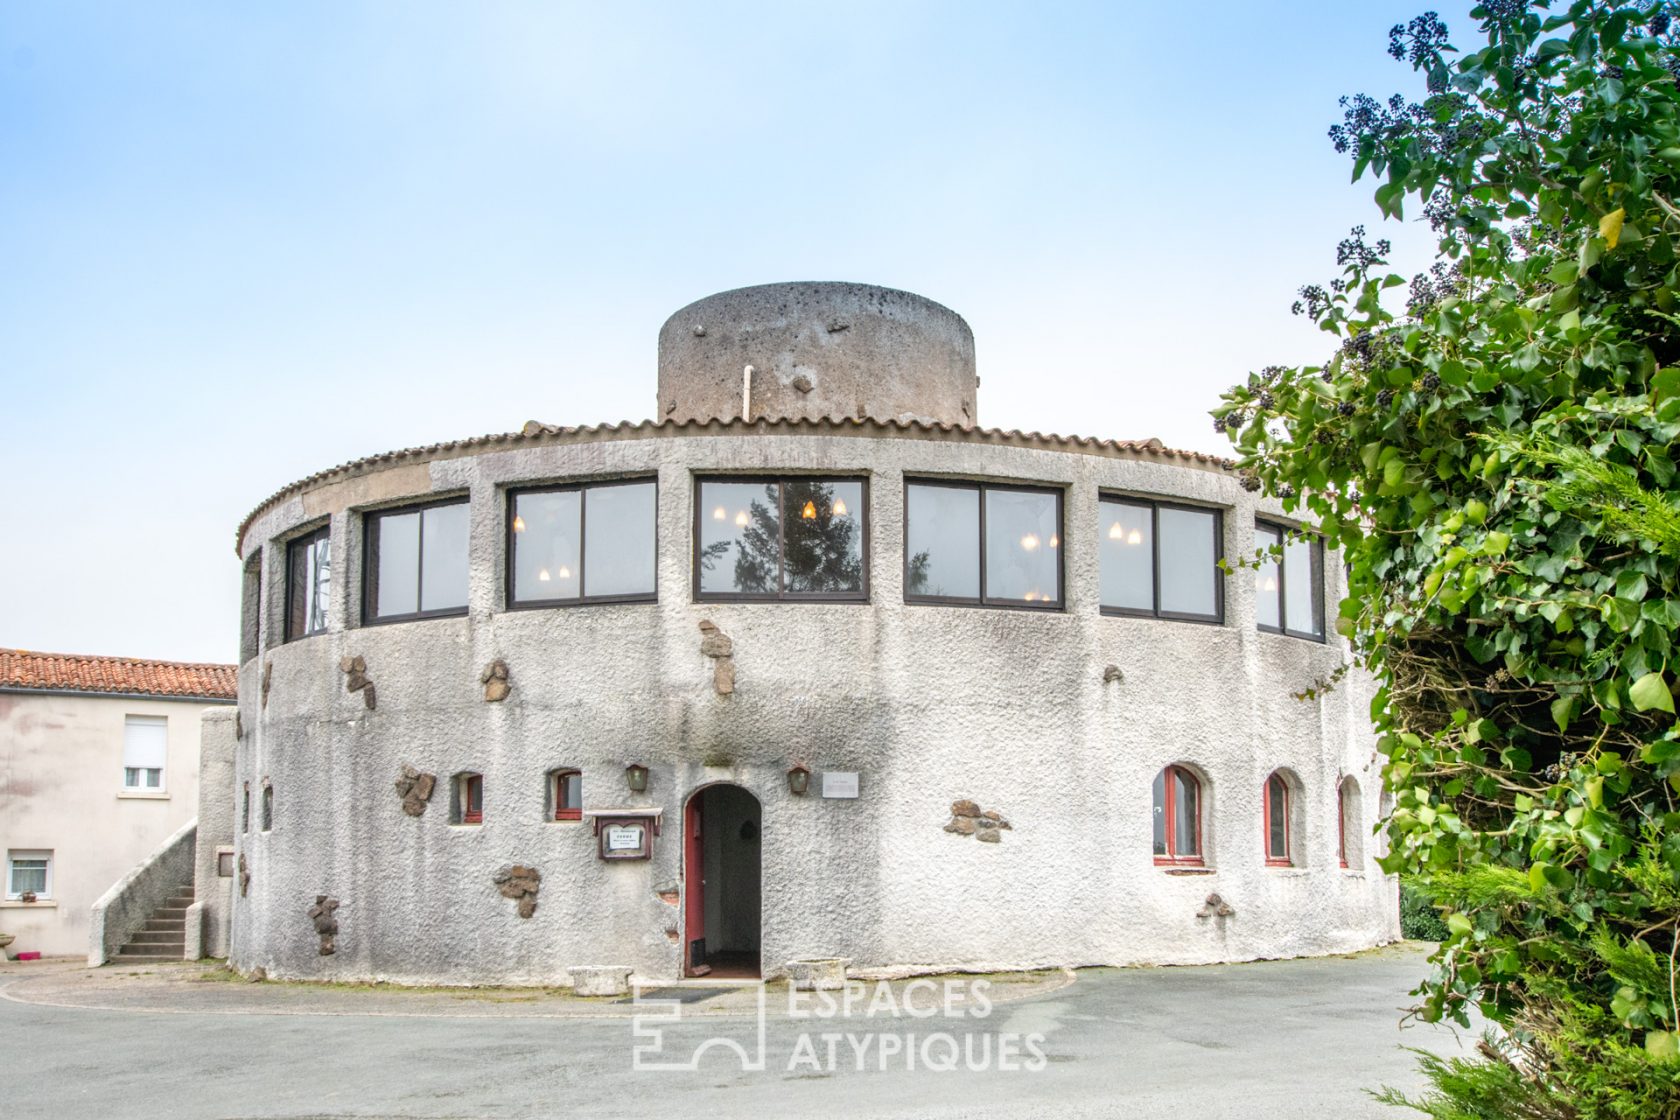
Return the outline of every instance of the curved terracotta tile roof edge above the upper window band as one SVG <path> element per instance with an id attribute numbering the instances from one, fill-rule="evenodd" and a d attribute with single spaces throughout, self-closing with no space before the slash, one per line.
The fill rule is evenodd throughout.
<path id="1" fill-rule="evenodd" d="M 549 443 L 600 443 L 610 440 L 647 440 L 659 437 L 685 435 L 885 435 L 911 437 L 927 440 L 946 440 L 956 443 L 991 443 L 1000 447 L 1026 447 L 1052 452 L 1074 452 L 1082 455 L 1107 455 L 1112 458 L 1171 458 L 1203 470 L 1230 470 L 1231 460 L 1206 452 L 1181 452 L 1161 443 L 1161 440 L 1099 440 L 1082 435 L 1047 435 L 1042 432 L 1020 432 L 1015 428 L 964 428 L 951 423 L 931 423 L 926 420 L 867 420 L 867 418 L 820 418 L 820 420 L 642 420 L 632 423 L 600 425 L 549 425 L 531 420 L 519 432 L 502 432 L 479 435 L 465 440 L 449 440 L 445 443 L 428 443 L 425 447 L 408 447 L 381 455 L 368 455 L 328 470 L 318 470 L 307 479 L 299 479 L 287 487 L 270 494 L 257 504 L 245 519 L 239 522 L 234 534 L 234 552 L 242 552 L 245 531 L 262 514 L 281 502 L 302 494 L 323 482 L 354 479 L 358 475 L 395 467 L 398 463 L 430 462 L 438 458 L 464 458 L 486 452 L 512 450 L 516 447 L 543 447 Z"/>

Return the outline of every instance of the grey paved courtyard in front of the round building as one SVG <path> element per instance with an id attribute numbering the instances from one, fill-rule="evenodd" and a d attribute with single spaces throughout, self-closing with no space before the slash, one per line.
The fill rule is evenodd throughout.
<path id="1" fill-rule="evenodd" d="M 202 966 L 0 967 L 0 1102 L 50 1117 L 1403 1117 L 1416 945 L 1319 960 L 1089 969 L 857 992 L 659 989 L 680 1019 L 533 991 L 245 984 Z M 951 996 L 954 1002 L 941 1002 Z M 990 1004 L 984 1006 L 984 1004 Z M 892 1014 L 892 1011 L 897 1014 Z M 948 1014 L 949 1013 L 949 1014 Z M 640 1018 L 638 1018 L 640 1014 Z M 657 1038 L 655 1038 L 657 1034 Z M 692 1070 L 684 1065 L 717 1039 Z M 640 1061 L 637 1048 L 643 1053 Z M 758 1063 L 763 1068 L 743 1068 Z M 637 1066 L 642 1068 L 637 1068 Z M 973 1070 L 969 1066 L 974 1066 Z M 929 1068 L 932 1066 L 932 1068 Z M 948 1068 L 954 1066 L 954 1068 Z"/>

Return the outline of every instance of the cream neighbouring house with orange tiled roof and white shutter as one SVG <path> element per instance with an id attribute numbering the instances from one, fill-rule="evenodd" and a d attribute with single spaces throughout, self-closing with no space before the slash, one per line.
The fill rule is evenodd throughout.
<path id="1" fill-rule="evenodd" d="M 87 952 L 89 908 L 198 816 L 198 717 L 232 665 L 0 650 L 0 932 Z"/>

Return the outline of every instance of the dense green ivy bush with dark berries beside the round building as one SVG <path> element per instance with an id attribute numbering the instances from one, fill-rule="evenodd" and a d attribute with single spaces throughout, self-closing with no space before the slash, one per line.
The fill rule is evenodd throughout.
<path id="1" fill-rule="evenodd" d="M 1504 1028 L 1410 1103 L 1680 1117 L 1680 25 L 1653 0 L 1472 18 L 1465 50 L 1435 13 L 1394 27 L 1428 96 L 1344 99 L 1331 129 L 1435 265 L 1408 285 L 1354 230 L 1295 306 L 1329 358 L 1250 374 L 1215 425 L 1344 552 L 1383 865 L 1446 927 L 1420 1014 Z"/>

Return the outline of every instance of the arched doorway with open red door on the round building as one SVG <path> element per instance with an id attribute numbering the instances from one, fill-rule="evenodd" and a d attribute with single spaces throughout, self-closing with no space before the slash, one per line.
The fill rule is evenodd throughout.
<path id="1" fill-rule="evenodd" d="M 759 976 L 758 798 L 706 786 L 682 811 L 684 976 Z"/>

